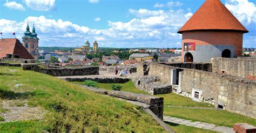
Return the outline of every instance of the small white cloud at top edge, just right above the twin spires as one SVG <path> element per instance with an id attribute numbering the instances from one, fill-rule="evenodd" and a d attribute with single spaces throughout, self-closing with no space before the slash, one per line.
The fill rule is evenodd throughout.
<path id="1" fill-rule="evenodd" d="M 52 11 L 56 9 L 55 0 L 25 0 L 26 6 L 37 11 Z"/>

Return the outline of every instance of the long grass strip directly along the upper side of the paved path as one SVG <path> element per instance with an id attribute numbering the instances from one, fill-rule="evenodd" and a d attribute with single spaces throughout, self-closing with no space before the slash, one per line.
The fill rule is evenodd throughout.
<path id="1" fill-rule="evenodd" d="M 164 115 L 192 121 L 213 123 L 226 127 L 233 127 L 234 123 L 250 123 L 254 126 L 256 125 L 255 119 L 237 113 L 227 112 L 226 110 L 187 109 L 165 106 Z"/>

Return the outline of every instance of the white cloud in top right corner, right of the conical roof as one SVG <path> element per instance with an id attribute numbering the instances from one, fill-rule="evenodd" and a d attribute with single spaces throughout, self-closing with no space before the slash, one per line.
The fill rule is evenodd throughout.
<path id="1" fill-rule="evenodd" d="M 249 25 L 256 23 L 256 6 L 248 0 L 228 0 L 225 4 L 241 23 Z"/>

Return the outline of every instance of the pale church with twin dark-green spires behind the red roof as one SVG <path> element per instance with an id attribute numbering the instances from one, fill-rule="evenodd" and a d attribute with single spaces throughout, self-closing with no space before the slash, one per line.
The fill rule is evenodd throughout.
<path id="1" fill-rule="evenodd" d="M 38 60 L 39 38 L 37 38 L 35 25 L 33 25 L 32 33 L 30 32 L 29 29 L 30 28 L 29 28 L 29 22 L 28 22 L 28 25 L 26 26 L 26 32 L 24 32 L 24 36 L 22 37 L 22 43 L 23 43 L 23 46 L 26 48 L 26 50 L 28 50 L 29 53 L 35 58 L 35 60 Z"/>

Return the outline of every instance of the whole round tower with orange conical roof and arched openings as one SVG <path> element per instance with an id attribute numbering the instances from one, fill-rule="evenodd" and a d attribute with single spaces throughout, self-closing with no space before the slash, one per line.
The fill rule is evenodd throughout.
<path id="1" fill-rule="evenodd" d="M 210 62 L 213 57 L 242 55 L 242 38 L 247 29 L 219 0 L 206 0 L 181 27 L 182 60 Z"/>

